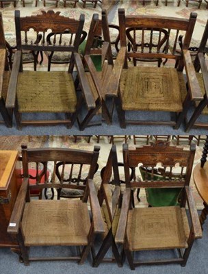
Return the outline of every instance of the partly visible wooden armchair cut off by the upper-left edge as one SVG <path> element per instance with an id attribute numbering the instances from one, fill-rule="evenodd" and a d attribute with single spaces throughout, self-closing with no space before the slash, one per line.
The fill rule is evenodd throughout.
<path id="1" fill-rule="evenodd" d="M 8 64 L 6 43 L 3 32 L 3 20 L 0 12 L 0 113 L 7 127 L 12 127 L 12 111 L 5 108 L 8 97 L 8 84 L 10 81 L 10 67 Z"/>

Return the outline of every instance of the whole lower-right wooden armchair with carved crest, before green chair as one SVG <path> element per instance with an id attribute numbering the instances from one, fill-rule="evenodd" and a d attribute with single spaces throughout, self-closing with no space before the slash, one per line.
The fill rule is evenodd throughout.
<path id="1" fill-rule="evenodd" d="M 116 243 L 124 245 L 126 257 L 132 270 L 141 264 L 179 263 L 181 266 L 185 266 L 194 240 L 202 238 L 198 213 L 189 186 L 194 154 L 194 146 L 190 147 L 190 151 L 185 151 L 183 148 L 161 145 L 130 150 L 127 144 L 123 145 L 126 189 L 116 232 Z M 150 177 L 146 174 L 144 181 L 139 178 L 130 181 L 129 166 L 138 168 L 142 165 L 153 171 L 153 168 L 158 164 L 169 172 L 169 178 L 164 175 L 163 179 L 155 181 L 152 172 Z M 180 172 L 185 171 L 185 177 L 173 179 L 172 175 L 176 167 Z M 132 208 L 131 189 L 147 187 L 183 188 L 180 206 Z M 185 211 L 186 202 L 190 219 L 187 219 Z M 174 254 L 174 258 L 170 258 L 169 249 L 178 251 L 178 253 L 171 253 Z M 161 257 L 161 253 L 159 253 L 159 260 L 153 260 L 152 257 L 151 260 L 148 260 L 146 252 L 146 260 L 138 260 L 137 251 L 144 250 L 163 250 L 163 253 L 168 253 L 168 258 L 164 258 L 164 254 Z"/>

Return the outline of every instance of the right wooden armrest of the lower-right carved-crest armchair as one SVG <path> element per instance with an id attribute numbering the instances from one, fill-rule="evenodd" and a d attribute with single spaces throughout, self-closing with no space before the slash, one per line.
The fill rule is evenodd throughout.
<path id="1" fill-rule="evenodd" d="M 198 218 L 198 212 L 196 210 L 194 197 L 192 195 L 192 190 L 190 186 L 185 186 L 185 195 L 187 197 L 187 205 L 190 210 L 190 216 L 192 220 L 192 226 L 193 226 L 193 232 L 194 232 L 194 238 L 202 238 L 202 229 L 200 226 L 200 221 Z"/>

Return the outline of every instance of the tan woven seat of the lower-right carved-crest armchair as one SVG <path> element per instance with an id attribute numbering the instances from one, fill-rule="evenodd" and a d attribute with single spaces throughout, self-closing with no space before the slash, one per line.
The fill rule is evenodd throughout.
<path id="1" fill-rule="evenodd" d="M 179 206 L 129 211 L 127 238 L 131 251 L 187 248 L 189 233 L 185 209 Z"/>

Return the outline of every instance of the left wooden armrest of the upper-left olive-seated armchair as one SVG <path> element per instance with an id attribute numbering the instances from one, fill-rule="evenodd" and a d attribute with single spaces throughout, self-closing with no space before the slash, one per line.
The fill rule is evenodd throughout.
<path id="1" fill-rule="evenodd" d="M 16 101 L 16 85 L 18 80 L 18 73 L 21 65 L 22 52 L 16 51 L 14 54 L 14 62 L 12 66 L 12 73 L 10 75 L 10 82 L 8 86 L 8 95 L 5 101 L 6 108 L 14 108 Z"/>

